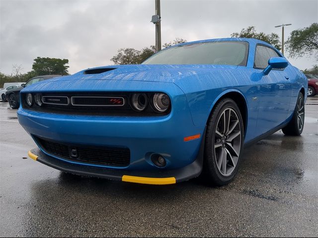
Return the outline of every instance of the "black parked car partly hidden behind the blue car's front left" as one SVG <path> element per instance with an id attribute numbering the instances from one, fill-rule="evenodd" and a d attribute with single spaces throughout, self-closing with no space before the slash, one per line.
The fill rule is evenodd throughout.
<path id="1" fill-rule="evenodd" d="M 43 75 L 43 76 L 37 76 L 34 78 L 29 79 L 25 84 L 21 84 L 21 87 L 18 88 L 12 88 L 5 92 L 6 100 L 9 102 L 9 105 L 12 109 L 16 109 L 20 106 L 20 91 L 27 86 L 30 86 L 33 83 L 37 83 L 46 79 L 59 77 L 62 75 Z"/>

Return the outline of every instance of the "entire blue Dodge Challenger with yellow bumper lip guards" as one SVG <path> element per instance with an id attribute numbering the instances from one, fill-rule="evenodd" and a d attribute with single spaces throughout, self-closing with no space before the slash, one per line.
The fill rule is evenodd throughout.
<path id="1" fill-rule="evenodd" d="M 67 173 L 148 184 L 202 174 L 224 185 L 247 144 L 302 133 L 307 87 L 263 41 L 204 40 L 33 84 L 18 119 L 38 145 L 29 156 Z"/>

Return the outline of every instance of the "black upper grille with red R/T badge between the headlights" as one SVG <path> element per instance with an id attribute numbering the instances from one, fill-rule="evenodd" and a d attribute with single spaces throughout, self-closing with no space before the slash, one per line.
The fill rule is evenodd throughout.
<path id="1" fill-rule="evenodd" d="M 131 106 L 130 96 L 138 92 L 43 92 L 43 98 L 60 98 L 63 103 L 43 103 L 41 107 L 35 103 L 29 107 L 25 102 L 25 93 L 22 93 L 22 107 L 27 110 L 57 113 L 65 115 L 89 115 L 89 116 L 135 116 L 135 117 L 161 117 L 168 115 L 171 107 L 164 113 L 157 113 L 152 109 L 151 103 L 142 111 L 137 112 Z M 154 93 L 147 93 L 149 98 Z M 105 99 L 108 98 L 108 99 Z M 118 101 L 116 101 L 118 99 Z M 112 101 L 111 101 L 112 100 Z M 69 103 L 67 103 L 69 101 Z M 72 102 L 75 105 L 72 105 Z M 79 106 L 82 105 L 82 106 Z M 90 106 L 89 106 L 90 105 Z"/>

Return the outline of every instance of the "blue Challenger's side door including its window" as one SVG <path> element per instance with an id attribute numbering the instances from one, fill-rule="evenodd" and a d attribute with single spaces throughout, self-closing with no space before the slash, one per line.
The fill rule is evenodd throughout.
<path id="1" fill-rule="evenodd" d="M 256 46 L 254 70 L 259 86 L 256 123 L 258 135 L 264 134 L 286 121 L 291 100 L 289 68 L 272 69 L 268 75 L 263 73 L 263 69 L 268 65 L 268 60 L 272 57 L 281 56 L 270 47 L 261 44 Z"/>

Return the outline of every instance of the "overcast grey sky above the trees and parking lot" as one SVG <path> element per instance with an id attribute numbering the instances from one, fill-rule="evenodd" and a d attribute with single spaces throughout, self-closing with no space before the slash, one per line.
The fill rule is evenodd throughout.
<path id="1" fill-rule="evenodd" d="M 32 69 L 36 57 L 69 59 L 69 72 L 112 64 L 119 48 L 155 45 L 155 0 L 0 0 L 0 71 Z M 266 34 L 318 22 L 318 0 L 161 0 L 161 42 L 230 37 L 247 26 Z M 288 58 L 288 54 L 286 54 Z M 289 59 L 300 69 L 314 59 Z"/>

